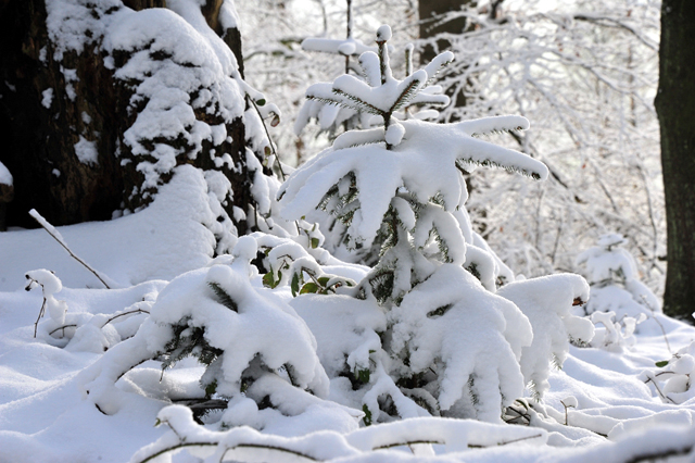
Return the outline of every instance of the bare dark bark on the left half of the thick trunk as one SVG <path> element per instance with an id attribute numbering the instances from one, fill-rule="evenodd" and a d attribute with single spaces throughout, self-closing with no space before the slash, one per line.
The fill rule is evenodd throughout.
<path id="1" fill-rule="evenodd" d="M 68 53 L 64 63 L 53 60 L 42 0 L 4 0 L 1 8 L 0 161 L 14 177 L 8 225 L 35 226 L 27 215 L 33 208 L 60 225 L 111 218 L 123 193 L 113 152 L 116 133 L 127 123 L 121 114 L 127 100 L 119 100 L 112 73 L 93 49 Z M 77 71 L 74 100 L 66 96 L 62 64 Z M 53 89 L 50 109 L 42 105 L 48 88 Z M 80 135 L 97 141 L 98 164 L 78 161 L 74 146 Z"/>

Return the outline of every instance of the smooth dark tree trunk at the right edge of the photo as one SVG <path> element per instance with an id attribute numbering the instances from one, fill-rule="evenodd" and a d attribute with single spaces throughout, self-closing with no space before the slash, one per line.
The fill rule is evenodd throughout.
<path id="1" fill-rule="evenodd" d="M 667 260 L 664 310 L 693 323 L 695 312 L 695 2 L 664 0 L 659 89 Z"/>

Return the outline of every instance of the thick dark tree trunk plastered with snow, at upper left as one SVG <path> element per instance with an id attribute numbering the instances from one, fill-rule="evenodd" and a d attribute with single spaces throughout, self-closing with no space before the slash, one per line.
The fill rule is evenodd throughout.
<path id="1" fill-rule="evenodd" d="M 192 164 L 227 178 L 210 183 L 219 222 L 254 226 L 264 170 L 249 146 L 268 142 L 248 112 L 230 2 L 11 0 L 2 12 L 10 225 L 31 226 L 31 208 L 55 225 L 139 210 Z"/>

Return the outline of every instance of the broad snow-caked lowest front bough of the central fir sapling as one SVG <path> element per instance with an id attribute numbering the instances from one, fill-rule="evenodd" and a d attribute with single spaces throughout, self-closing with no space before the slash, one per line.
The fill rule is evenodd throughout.
<path id="1" fill-rule="evenodd" d="M 427 376 L 434 368 L 438 379 L 425 389 L 442 412 L 498 422 L 500 404 L 523 395 L 517 359 L 531 345 L 531 325 L 463 268 L 441 266 L 389 312 L 389 321 L 401 374 Z"/>

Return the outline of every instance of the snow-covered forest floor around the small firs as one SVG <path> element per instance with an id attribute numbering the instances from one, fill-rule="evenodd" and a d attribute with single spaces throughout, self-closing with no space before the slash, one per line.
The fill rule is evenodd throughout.
<path id="1" fill-rule="evenodd" d="M 198 442 L 224 440 L 228 447 L 236 446 L 226 450 L 227 458 L 242 461 L 307 461 L 309 456 L 319 461 L 631 461 L 635 455 L 690 451 L 695 443 L 695 392 L 690 385 L 695 364 L 688 363 L 692 358 L 686 349 L 695 340 L 695 328 L 658 313 L 637 325 L 634 338 L 623 327 L 612 343 L 605 340 L 608 338 L 604 334 L 603 348 L 571 346 L 561 370 L 551 372 L 549 389 L 542 402 L 534 404 L 527 398 L 527 402 L 515 403 L 518 414 L 526 415 L 526 420 L 518 421 L 530 420 L 530 426 L 419 417 L 365 427 L 361 425 L 362 410 L 344 405 L 351 402 L 346 397 L 350 388 L 344 388 L 341 378 L 333 378 L 325 400 L 301 405 L 299 402 L 313 396 L 298 396 L 299 411 L 273 410 L 271 414 L 256 409 L 255 427 L 261 433 L 248 426 L 205 429 L 194 425 L 180 405 L 165 409 L 172 400 L 202 396 L 199 379 L 204 367 L 192 358 L 165 374 L 159 362 L 140 364 L 116 384 L 121 390 L 114 409 L 117 411 L 101 413 L 85 393 L 85 384 L 93 377 L 93 371 L 85 368 L 103 358 L 104 350 L 132 336 L 146 314 L 136 313 L 119 321 L 111 317 L 126 309 L 152 306 L 168 280 L 212 261 L 207 255 L 213 245 L 200 218 L 170 214 L 180 212 L 184 199 L 191 198 L 185 183 L 179 185 L 176 178 L 144 211 L 108 223 L 59 228 L 77 255 L 109 275 L 119 288 L 102 289 L 96 277 L 42 229 L 0 235 L 1 462 L 126 462 L 139 449 L 160 439 L 155 447 L 146 448 L 132 460 L 141 461 L 152 454 L 152 449 L 173 442 L 167 426 L 155 426 L 163 409 L 160 421 L 179 433 L 182 429 Z M 184 178 L 185 175 L 179 177 Z M 354 265 L 332 263 L 334 273 L 348 277 L 358 278 L 364 272 Z M 24 290 L 24 274 L 36 268 L 55 272 L 62 289 L 60 285 L 49 288 L 46 284 L 45 291 L 55 291 L 53 299 L 66 304 L 65 324 L 72 321 L 80 325 L 79 336 L 74 327 L 61 328 L 73 337 L 66 347 L 59 339 L 60 330 L 48 335 L 49 328 L 55 329 L 51 325 L 55 320 L 49 313 L 34 337 L 34 323 L 43 298 L 38 287 Z M 199 273 L 188 276 L 188 280 Z M 257 273 L 253 276 L 253 272 L 251 275 L 252 286 L 266 291 L 260 289 L 262 277 Z M 184 284 L 178 285 L 181 288 Z M 292 301 L 296 313 L 306 318 L 315 331 L 321 361 L 330 354 L 321 351 L 330 346 L 326 337 L 341 336 L 341 327 L 356 323 L 344 313 L 340 317 L 340 301 L 326 308 L 337 314 L 332 318 L 330 312 L 317 315 L 312 310 L 312 300 L 320 296 L 293 299 L 288 286 L 267 291 L 275 295 L 278 304 Z M 361 315 L 357 303 L 354 302 L 354 313 L 363 317 L 359 323 L 377 323 L 366 322 L 367 315 Z M 90 321 L 94 326 L 96 322 L 106 326 L 111 321 L 115 328 L 89 330 L 85 326 Z M 328 324 L 334 326 L 327 329 Z M 679 363 L 673 354 L 683 348 L 679 356 L 684 362 Z M 668 365 L 656 366 L 667 360 L 671 360 Z M 681 379 L 666 383 L 679 375 Z M 237 405 L 239 422 L 244 423 L 251 415 L 244 417 L 243 403 Z M 508 411 L 507 417 L 514 413 Z M 396 446 L 418 441 L 439 443 Z M 381 450 L 372 450 L 380 447 Z M 212 454 L 215 449 L 220 451 L 200 447 L 200 455 Z M 294 453 L 288 453 L 288 449 Z M 198 460 L 184 452 L 174 461 Z"/>

